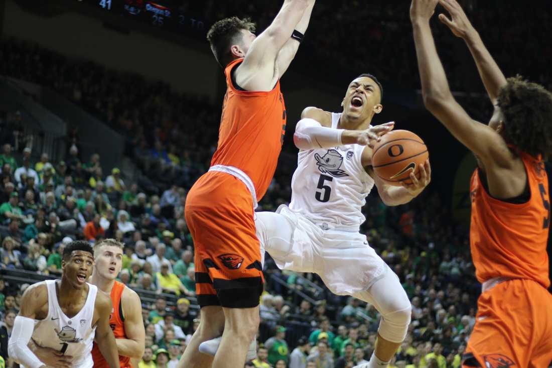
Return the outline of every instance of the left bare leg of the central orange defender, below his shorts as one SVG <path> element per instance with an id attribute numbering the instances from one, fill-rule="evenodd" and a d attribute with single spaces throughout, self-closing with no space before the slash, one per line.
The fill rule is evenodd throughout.
<path id="1" fill-rule="evenodd" d="M 201 308 L 200 319 L 198 329 L 178 362 L 178 368 L 210 368 L 213 364 L 213 356 L 201 354 L 198 348 L 203 341 L 220 336 L 225 323 L 222 307 L 206 306 Z"/>

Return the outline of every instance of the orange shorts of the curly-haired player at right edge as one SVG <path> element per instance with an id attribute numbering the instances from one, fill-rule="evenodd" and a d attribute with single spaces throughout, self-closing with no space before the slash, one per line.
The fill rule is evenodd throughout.
<path id="1" fill-rule="evenodd" d="M 481 294 L 463 367 L 546 368 L 552 361 L 552 295 L 532 280 Z"/>

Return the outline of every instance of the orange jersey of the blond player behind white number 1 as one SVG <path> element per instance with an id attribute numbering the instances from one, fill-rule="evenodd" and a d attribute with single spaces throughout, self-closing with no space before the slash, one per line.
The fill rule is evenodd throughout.
<path id="1" fill-rule="evenodd" d="M 109 316 L 109 326 L 113 330 L 115 339 L 126 339 L 125 318 L 123 316 L 123 307 L 121 306 L 121 296 L 123 295 L 125 287 L 124 283 L 115 281 L 110 295 L 113 309 L 111 316 Z M 100 349 L 96 343 L 94 343 L 94 347 L 92 348 L 92 358 L 94 359 L 94 368 L 109 368 L 107 361 L 102 353 L 100 353 Z M 128 356 L 119 355 L 119 365 L 121 368 L 131 368 L 130 358 L 128 358 Z"/>

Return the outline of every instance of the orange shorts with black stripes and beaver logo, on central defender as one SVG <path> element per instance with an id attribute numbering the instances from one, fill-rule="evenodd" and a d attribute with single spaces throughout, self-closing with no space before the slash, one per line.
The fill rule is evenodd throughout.
<path id="1" fill-rule="evenodd" d="M 264 277 L 247 187 L 224 172 L 207 172 L 186 198 L 194 241 L 195 290 L 200 307 L 252 308 Z"/>

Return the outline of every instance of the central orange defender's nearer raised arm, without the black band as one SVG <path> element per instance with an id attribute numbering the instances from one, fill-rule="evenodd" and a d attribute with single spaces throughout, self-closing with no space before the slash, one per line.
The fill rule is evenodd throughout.
<path id="1" fill-rule="evenodd" d="M 284 1 L 272 23 L 253 41 L 238 66 L 235 77 L 239 86 L 247 91 L 270 91 L 274 88 L 275 81 L 280 77 L 275 74 L 276 57 L 308 7 L 309 0 Z"/>

